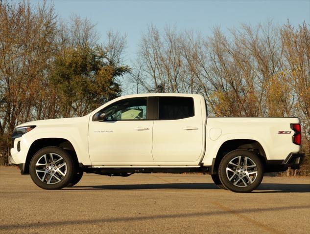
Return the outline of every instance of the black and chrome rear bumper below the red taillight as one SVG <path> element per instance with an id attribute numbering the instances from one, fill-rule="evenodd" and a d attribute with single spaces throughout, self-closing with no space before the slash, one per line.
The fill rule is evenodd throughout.
<path id="1" fill-rule="evenodd" d="M 285 171 L 288 168 L 299 169 L 305 158 L 304 153 L 289 153 L 285 160 L 267 160 L 265 172 Z"/>

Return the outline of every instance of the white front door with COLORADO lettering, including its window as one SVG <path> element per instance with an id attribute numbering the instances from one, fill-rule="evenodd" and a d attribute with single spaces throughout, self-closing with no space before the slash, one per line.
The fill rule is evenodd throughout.
<path id="1" fill-rule="evenodd" d="M 105 120 L 89 123 L 89 154 L 92 163 L 153 162 L 153 120 L 148 120 L 147 97 L 127 98 L 100 112 Z M 98 164 L 97 164 L 98 165 Z"/>

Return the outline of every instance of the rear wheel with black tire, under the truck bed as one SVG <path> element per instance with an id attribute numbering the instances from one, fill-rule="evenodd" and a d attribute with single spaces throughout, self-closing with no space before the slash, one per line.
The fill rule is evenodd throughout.
<path id="1" fill-rule="evenodd" d="M 227 153 L 218 170 L 221 183 L 234 192 L 251 192 L 261 184 L 263 178 L 261 159 L 244 149 Z"/>

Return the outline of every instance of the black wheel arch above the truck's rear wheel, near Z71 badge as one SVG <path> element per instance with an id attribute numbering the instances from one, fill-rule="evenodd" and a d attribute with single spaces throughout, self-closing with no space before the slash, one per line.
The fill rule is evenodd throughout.
<path id="1" fill-rule="evenodd" d="M 246 149 L 249 151 L 253 151 L 261 159 L 263 167 L 266 167 L 266 153 L 262 145 L 258 141 L 252 139 L 228 140 L 225 141 L 218 149 L 216 158 L 212 162 L 211 174 L 217 174 L 218 167 L 222 158 L 227 153 L 236 149 Z"/>

